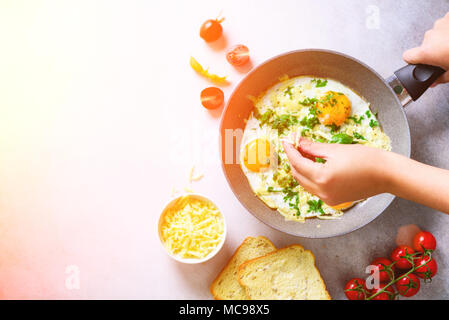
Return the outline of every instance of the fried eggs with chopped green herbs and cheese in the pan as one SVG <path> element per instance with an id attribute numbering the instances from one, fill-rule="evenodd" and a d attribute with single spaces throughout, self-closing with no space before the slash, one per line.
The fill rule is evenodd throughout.
<path id="1" fill-rule="evenodd" d="M 254 111 L 241 140 L 240 165 L 255 195 L 285 219 L 335 219 L 355 203 L 329 206 L 307 192 L 290 173 L 281 139 L 295 133 L 313 141 L 339 143 L 344 137 L 345 143 L 391 150 L 369 102 L 338 81 L 283 77 L 252 100 Z"/>

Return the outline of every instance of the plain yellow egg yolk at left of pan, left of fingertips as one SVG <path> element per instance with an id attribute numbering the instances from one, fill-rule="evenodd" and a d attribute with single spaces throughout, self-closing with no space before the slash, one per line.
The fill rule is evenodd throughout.
<path id="1" fill-rule="evenodd" d="M 245 146 L 243 163 L 252 172 L 261 172 L 270 167 L 271 146 L 265 139 L 255 139 Z"/>

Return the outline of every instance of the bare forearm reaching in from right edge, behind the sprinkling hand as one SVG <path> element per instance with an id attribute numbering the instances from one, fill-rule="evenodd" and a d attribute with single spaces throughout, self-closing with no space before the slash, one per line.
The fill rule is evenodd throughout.
<path id="1" fill-rule="evenodd" d="M 449 213 L 449 170 L 389 153 L 385 164 L 387 192 Z"/>

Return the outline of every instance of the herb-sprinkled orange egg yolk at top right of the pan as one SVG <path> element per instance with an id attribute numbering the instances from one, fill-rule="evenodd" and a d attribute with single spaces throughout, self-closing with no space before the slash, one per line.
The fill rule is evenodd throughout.
<path id="1" fill-rule="evenodd" d="M 341 92 L 326 92 L 316 107 L 318 119 L 324 125 L 341 126 L 351 114 L 351 101 Z"/>

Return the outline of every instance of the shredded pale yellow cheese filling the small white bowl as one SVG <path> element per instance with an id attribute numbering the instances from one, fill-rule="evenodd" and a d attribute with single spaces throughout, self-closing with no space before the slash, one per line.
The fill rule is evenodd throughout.
<path id="1" fill-rule="evenodd" d="M 184 259 L 202 259 L 222 240 L 223 218 L 211 202 L 180 198 L 165 214 L 161 234 L 166 248 Z"/>

